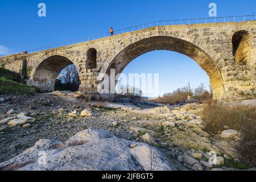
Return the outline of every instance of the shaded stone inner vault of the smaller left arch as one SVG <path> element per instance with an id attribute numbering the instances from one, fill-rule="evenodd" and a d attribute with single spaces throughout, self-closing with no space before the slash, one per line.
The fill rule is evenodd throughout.
<path id="1" fill-rule="evenodd" d="M 64 68 L 75 68 L 76 74 L 78 74 L 75 65 L 67 57 L 59 55 L 49 56 L 36 68 L 33 76 L 34 84 L 42 91 L 54 91 L 56 78 L 60 77 L 62 71 L 69 70 Z M 70 78 L 68 79 L 70 80 Z"/>

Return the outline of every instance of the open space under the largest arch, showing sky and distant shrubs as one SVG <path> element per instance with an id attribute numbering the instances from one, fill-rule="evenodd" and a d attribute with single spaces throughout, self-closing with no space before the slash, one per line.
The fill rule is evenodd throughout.
<path id="1" fill-rule="evenodd" d="M 151 51 L 135 58 L 131 61 L 117 81 L 115 90 L 117 94 L 125 96 L 142 96 L 144 98 L 158 98 L 166 94 L 174 93 L 176 90 L 184 90 L 184 99 L 199 96 L 196 93 L 199 86 L 203 88 L 202 92 L 208 92 L 210 97 L 209 76 L 199 67 L 199 65 L 191 58 L 173 51 Z M 158 75 L 158 86 L 154 92 L 143 87 L 142 76 L 141 82 L 135 84 L 135 81 L 129 82 L 129 74 L 146 75 L 148 80 L 154 82 L 155 74 Z M 152 79 L 151 77 L 152 76 Z M 128 85 L 128 86 L 127 86 Z M 154 84 L 153 84 L 154 85 Z M 133 88 L 132 93 L 123 92 Z M 155 86 L 155 85 L 154 85 Z M 185 91 L 187 96 L 185 96 Z M 208 98 L 209 98 L 208 97 Z M 201 97 L 202 98 L 202 97 Z"/>

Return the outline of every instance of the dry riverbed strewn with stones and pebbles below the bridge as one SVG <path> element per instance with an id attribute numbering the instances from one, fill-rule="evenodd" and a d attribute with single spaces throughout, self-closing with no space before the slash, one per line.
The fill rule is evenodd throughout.
<path id="1" fill-rule="evenodd" d="M 117 140 L 117 143 L 129 143 L 130 148 L 148 143 L 149 145 L 143 146 L 146 148 L 138 150 L 143 154 L 147 154 L 150 146 L 157 148 L 158 169 L 236 170 L 237 166 L 232 164 L 240 164 L 240 155 L 236 151 L 240 134 L 226 131 L 224 136 L 205 132 L 204 122 L 200 119 L 202 108 L 202 104 L 196 103 L 163 106 L 125 99 L 119 102 L 86 102 L 79 98 L 79 94 L 69 92 L 35 96 L 1 95 L 0 163 L 21 154 L 40 139 L 64 142 L 79 132 L 97 133 L 100 136 L 102 132 L 109 131 L 118 139 L 125 139 L 122 142 Z M 91 138 L 95 143 L 95 136 L 92 135 Z M 101 140 L 96 141 L 101 143 Z M 109 141 L 110 148 L 111 142 L 113 141 Z M 64 150 L 67 146 L 64 145 L 62 148 Z M 53 149 L 49 147 L 47 150 Z M 127 156 L 132 155 L 133 160 L 137 159 L 133 155 L 133 150 L 126 150 Z M 162 154 L 168 161 L 167 166 L 165 159 L 160 156 Z M 211 159 L 214 159 L 214 164 L 209 163 Z M 5 166 L 9 163 L 5 163 Z M 141 168 L 129 163 L 130 167 L 133 166 L 130 169 L 150 169 L 139 157 L 134 162 L 137 163 Z M 129 169 L 129 165 L 124 166 L 127 168 L 123 169 Z M 248 167 L 240 164 L 239 168 Z M 93 167 L 92 164 L 85 169 L 105 168 Z"/>

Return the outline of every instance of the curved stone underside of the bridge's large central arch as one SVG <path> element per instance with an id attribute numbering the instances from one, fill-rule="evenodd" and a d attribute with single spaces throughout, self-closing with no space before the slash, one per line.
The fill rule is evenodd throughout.
<path id="1" fill-rule="evenodd" d="M 110 75 L 110 69 L 115 69 L 117 76 L 136 57 L 155 50 L 175 51 L 195 60 L 210 78 L 213 98 L 225 97 L 222 77 L 212 58 L 195 44 L 172 36 L 152 36 L 130 44 L 114 57 L 105 73 Z"/>

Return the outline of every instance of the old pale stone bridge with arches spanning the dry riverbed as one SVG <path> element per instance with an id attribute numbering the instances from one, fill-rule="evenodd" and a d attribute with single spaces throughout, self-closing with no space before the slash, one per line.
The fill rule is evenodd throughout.
<path id="1" fill-rule="evenodd" d="M 155 26 L 71 46 L 0 57 L 0 64 L 22 73 L 28 84 L 44 91 L 54 90 L 61 70 L 75 64 L 80 90 L 97 92 L 104 80 L 100 73 L 109 75 L 110 69 L 115 69 L 118 75 L 136 57 L 156 49 L 179 52 L 195 60 L 209 76 L 214 98 L 256 96 L 255 20 Z"/>

